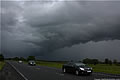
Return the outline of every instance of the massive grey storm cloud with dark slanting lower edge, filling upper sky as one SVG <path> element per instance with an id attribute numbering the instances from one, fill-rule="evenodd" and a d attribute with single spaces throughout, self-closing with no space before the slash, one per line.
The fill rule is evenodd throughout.
<path id="1" fill-rule="evenodd" d="M 3 36 L 39 49 L 34 55 L 90 41 L 120 40 L 119 8 L 119 1 L 3 1 L 2 32 L 12 30 Z"/>

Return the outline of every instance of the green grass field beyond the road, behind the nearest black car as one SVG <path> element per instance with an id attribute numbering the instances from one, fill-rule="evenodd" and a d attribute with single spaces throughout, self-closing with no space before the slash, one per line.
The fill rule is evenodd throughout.
<path id="1" fill-rule="evenodd" d="M 37 65 L 41 66 L 48 66 L 48 67 L 55 67 L 55 68 L 62 68 L 64 64 L 61 62 L 46 62 L 46 61 L 36 61 Z M 89 64 L 90 67 L 93 68 L 94 72 L 104 72 L 104 73 L 111 73 L 111 74 L 120 74 L 120 66 L 116 65 L 109 65 L 109 64 L 97 64 L 92 65 Z"/>

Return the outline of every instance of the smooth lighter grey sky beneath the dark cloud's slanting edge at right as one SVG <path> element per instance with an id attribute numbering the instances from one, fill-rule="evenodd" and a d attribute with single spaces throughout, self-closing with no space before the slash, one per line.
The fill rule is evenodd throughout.
<path id="1" fill-rule="evenodd" d="M 50 60 L 82 60 L 84 58 L 99 58 L 103 60 L 120 60 L 120 40 L 108 40 L 85 44 L 74 45 L 70 48 L 59 49 L 52 54 L 47 54 L 46 58 Z M 56 54 L 57 53 L 57 54 Z"/>

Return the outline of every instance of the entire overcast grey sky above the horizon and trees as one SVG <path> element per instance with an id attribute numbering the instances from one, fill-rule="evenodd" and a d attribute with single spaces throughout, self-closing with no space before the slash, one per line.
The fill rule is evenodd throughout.
<path id="1" fill-rule="evenodd" d="M 120 60 L 120 1 L 2 0 L 0 8 L 6 57 Z"/>

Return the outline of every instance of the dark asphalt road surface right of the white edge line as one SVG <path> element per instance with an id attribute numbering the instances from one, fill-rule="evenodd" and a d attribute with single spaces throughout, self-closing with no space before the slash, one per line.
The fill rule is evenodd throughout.
<path id="1" fill-rule="evenodd" d="M 8 63 L 23 77 L 25 80 L 120 80 L 120 76 L 108 75 L 102 73 L 93 73 L 90 76 L 76 76 L 71 73 L 63 73 L 61 69 L 46 66 L 29 66 L 14 61 Z"/>

